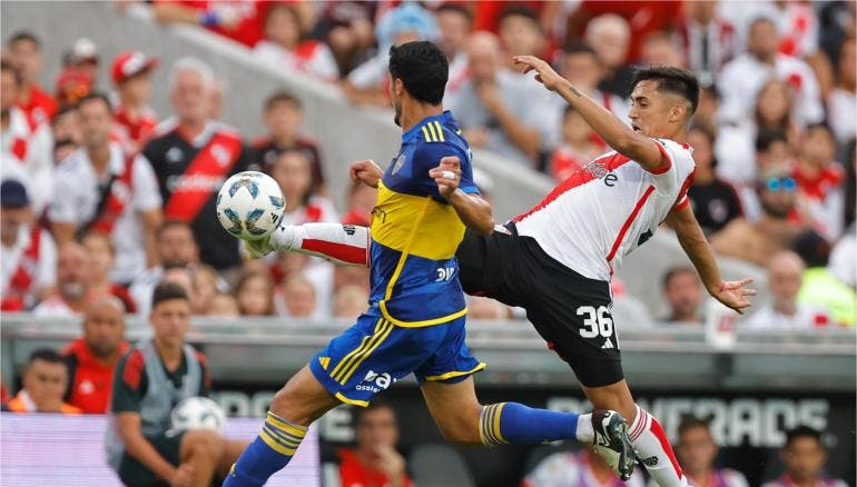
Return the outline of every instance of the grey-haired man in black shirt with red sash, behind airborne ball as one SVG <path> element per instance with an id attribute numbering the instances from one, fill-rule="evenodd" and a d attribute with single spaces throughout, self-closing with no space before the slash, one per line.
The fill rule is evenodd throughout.
<path id="1" fill-rule="evenodd" d="M 235 129 L 208 118 L 214 72 L 195 58 L 177 60 L 169 72 L 175 117 L 142 149 L 164 198 L 166 218 L 190 225 L 201 261 L 218 271 L 240 264 L 238 241 L 217 229 L 217 191 L 229 176 L 249 166 Z"/>

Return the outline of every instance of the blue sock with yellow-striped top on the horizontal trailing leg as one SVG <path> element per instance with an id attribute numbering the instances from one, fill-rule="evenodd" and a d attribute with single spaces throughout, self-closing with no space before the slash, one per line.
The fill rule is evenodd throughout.
<path id="1" fill-rule="evenodd" d="M 575 413 L 533 409 L 518 402 L 498 402 L 482 408 L 480 436 L 485 446 L 578 439 L 579 417 Z"/>

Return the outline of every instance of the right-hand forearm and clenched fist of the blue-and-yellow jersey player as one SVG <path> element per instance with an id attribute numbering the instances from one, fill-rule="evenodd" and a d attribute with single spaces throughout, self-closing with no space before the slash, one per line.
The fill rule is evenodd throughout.
<path id="1" fill-rule="evenodd" d="M 444 157 L 436 168 L 428 170 L 428 176 L 434 178 L 439 192 L 452 205 L 465 226 L 482 235 L 491 235 L 494 231 L 491 205 L 481 197 L 466 193 L 459 188 L 461 161 L 457 157 Z"/>

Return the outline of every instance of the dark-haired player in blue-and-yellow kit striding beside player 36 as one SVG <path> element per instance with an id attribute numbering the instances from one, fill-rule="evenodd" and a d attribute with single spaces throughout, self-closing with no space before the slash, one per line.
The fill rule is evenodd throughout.
<path id="1" fill-rule="evenodd" d="M 464 344 L 467 309 L 455 250 L 465 226 L 489 235 L 494 220 L 473 183 L 467 142 L 441 103 L 447 73 L 446 57 L 431 42 L 391 49 L 391 98 L 402 147 L 386 172 L 371 181 L 378 188 L 371 241 L 362 231 L 356 238 L 363 240 L 352 242 L 359 244 L 352 245 L 356 252 L 347 257 L 372 260 L 370 308 L 276 394 L 262 433 L 225 487 L 264 485 L 288 464 L 309 424 L 343 402 L 368 406 L 375 394 L 412 372 L 449 441 L 494 446 L 577 439 L 630 477 L 636 457 L 618 413 L 482 406 L 476 399 L 472 375 L 485 365 Z M 373 168 L 372 161 L 357 162 L 352 177 L 366 181 L 364 171 Z M 338 228 L 356 236 L 355 227 Z M 273 246 L 265 240 L 247 248 L 260 257 Z"/>

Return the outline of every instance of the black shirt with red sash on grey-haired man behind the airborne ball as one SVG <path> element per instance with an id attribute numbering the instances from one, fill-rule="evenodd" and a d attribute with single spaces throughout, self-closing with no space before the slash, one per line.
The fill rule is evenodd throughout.
<path id="1" fill-rule="evenodd" d="M 164 216 L 190 225 L 200 258 L 217 269 L 240 262 L 238 241 L 217 222 L 217 191 L 229 176 L 247 169 L 249 160 L 238 132 L 208 122 L 193 140 L 175 119 L 158 128 L 141 155 L 151 163 L 165 201 Z"/>

